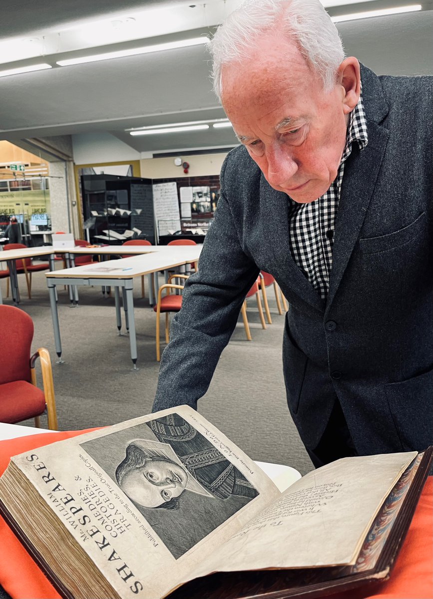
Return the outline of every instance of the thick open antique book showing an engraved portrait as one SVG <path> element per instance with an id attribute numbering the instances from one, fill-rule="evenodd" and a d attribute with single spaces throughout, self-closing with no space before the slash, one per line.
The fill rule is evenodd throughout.
<path id="1" fill-rule="evenodd" d="M 431 454 L 341 459 L 281 494 L 181 406 L 15 456 L 0 511 L 64 597 L 317 597 L 389 576 Z"/>

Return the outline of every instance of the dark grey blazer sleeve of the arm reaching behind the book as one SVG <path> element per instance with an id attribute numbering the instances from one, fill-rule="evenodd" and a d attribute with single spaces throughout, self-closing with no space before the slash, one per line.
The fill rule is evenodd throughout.
<path id="1" fill-rule="evenodd" d="M 214 222 L 205 237 L 199 271 L 187 280 L 182 310 L 170 327 L 170 343 L 161 359 L 153 412 L 181 404 L 197 409 L 197 400 L 208 390 L 242 302 L 258 276 L 255 262 L 242 249 L 230 198 L 224 189 L 226 165 L 227 159 L 222 166 L 221 194 Z M 236 197 L 233 201 L 241 200 Z"/>

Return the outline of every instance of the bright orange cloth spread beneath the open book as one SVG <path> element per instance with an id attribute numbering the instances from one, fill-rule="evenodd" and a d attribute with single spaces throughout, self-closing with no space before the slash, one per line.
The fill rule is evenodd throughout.
<path id="1" fill-rule="evenodd" d="M 91 429 L 94 430 L 94 429 Z M 89 431 L 56 432 L 0 441 L 0 474 L 10 456 Z M 58 599 L 59 594 L 0 517 L 0 585 L 13 599 Z M 433 477 L 420 497 L 391 578 L 329 599 L 433 599 Z"/>

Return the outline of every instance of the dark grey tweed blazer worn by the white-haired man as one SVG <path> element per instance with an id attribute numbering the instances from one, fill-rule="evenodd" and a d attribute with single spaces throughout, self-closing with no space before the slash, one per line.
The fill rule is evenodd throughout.
<path id="1" fill-rule="evenodd" d="M 196 407 L 262 269 L 290 304 L 282 362 L 306 447 L 317 446 L 336 398 L 360 454 L 433 444 L 433 77 L 377 77 L 364 66 L 361 76 L 368 145 L 354 144 L 345 164 L 326 303 L 291 258 L 287 196 L 237 147 L 154 410 Z"/>

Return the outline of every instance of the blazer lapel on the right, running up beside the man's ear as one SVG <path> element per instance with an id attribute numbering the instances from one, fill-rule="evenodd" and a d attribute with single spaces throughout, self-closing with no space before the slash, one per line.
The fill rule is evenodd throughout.
<path id="1" fill-rule="evenodd" d="M 358 240 L 389 137 L 389 131 L 378 124 L 387 114 L 380 82 L 363 66 L 361 74 L 368 144 L 362 151 L 354 144 L 344 167 L 325 318 Z"/>

